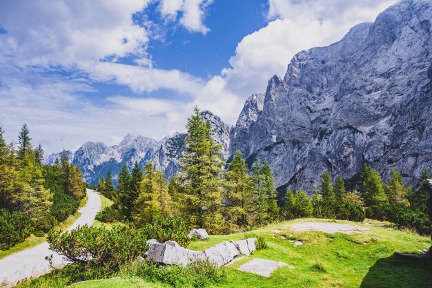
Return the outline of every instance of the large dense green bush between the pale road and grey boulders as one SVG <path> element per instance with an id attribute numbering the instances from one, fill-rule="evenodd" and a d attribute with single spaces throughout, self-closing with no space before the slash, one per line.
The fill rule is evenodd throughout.
<path id="1" fill-rule="evenodd" d="M 143 229 L 124 225 L 112 229 L 85 225 L 66 233 L 56 230 L 48 234 L 50 249 L 70 262 L 111 270 L 144 257 L 147 239 Z"/>

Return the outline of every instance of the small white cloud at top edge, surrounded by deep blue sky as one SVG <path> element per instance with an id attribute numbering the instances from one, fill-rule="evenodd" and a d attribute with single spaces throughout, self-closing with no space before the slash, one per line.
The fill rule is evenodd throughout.
<path id="1" fill-rule="evenodd" d="M 168 21 L 177 20 L 191 32 L 206 34 L 210 31 L 204 23 L 205 12 L 213 0 L 161 0 L 159 9 Z"/>

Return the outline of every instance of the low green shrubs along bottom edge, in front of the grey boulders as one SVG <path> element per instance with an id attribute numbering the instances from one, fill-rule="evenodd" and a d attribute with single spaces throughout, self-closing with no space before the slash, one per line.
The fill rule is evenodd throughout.
<path id="1" fill-rule="evenodd" d="M 124 270 L 128 275 L 148 281 L 165 282 L 173 287 L 201 288 L 222 281 L 226 272 L 208 262 L 194 262 L 187 267 L 170 265 L 159 267 L 154 262 L 136 262 Z"/>

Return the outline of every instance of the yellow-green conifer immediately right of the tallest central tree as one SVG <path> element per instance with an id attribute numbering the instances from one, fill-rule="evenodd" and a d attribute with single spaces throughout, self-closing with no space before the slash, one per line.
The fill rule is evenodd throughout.
<path id="1" fill-rule="evenodd" d="M 233 161 L 228 165 L 225 179 L 224 202 L 230 230 L 249 227 L 253 190 L 248 166 L 241 151 L 235 153 Z"/>

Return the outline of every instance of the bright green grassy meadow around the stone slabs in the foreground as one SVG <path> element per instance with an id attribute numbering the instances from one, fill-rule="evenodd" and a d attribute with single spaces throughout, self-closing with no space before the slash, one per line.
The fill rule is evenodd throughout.
<path id="1" fill-rule="evenodd" d="M 432 287 L 432 273 L 423 267 L 403 265 L 393 257 L 394 251 L 418 253 L 431 246 L 430 238 L 391 227 L 334 221 L 366 227 L 369 230 L 346 235 L 319 231 L 295 231 L 289 225 L 297 222 L 329 222 L 329 220 L 293 220 L 255 229 L 253 233 L 265 238 L 268 248 L 255 251 L 235 264 L 225 267 L 226 280 L 211 287 Z M 331 221 L 333 222 L 333 220 Z M 279 231 L 280 230 L 280 231 Z M 208 240 L 190 243 L 190 249 L 204 250 L 224 240 L 239 240 L 244 233 L 210 236 Z M 376 237 L 377 241 L 372 241 Z M 302 246 L 294 247 L 301 240 Z M 237 270 L 252 258 L 286 262 L 295 267 L 281 267 L 270 278 Z M 58 282 L 58 281 L 57 281 Z M 144 285 L 144 286 L 139 286 Z M 49 287 L 49 286 L 47 286 Z M 65 287 L 59 286 L 59 287 Z M 92 280 L 68 287 L 167 287 L 159 283 L 140 282 L 136 278 Z"/>

